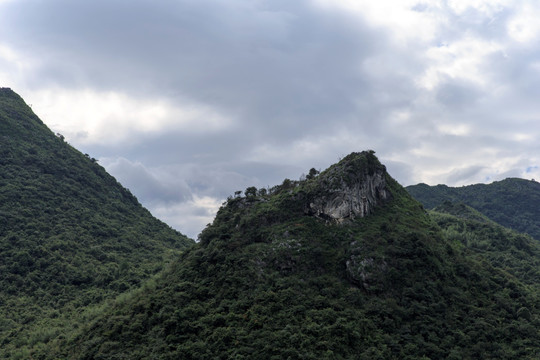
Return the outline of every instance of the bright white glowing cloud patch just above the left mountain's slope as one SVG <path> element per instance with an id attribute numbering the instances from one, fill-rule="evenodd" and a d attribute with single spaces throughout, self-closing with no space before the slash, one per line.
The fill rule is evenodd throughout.
<path id="1" fill-rule="evenodd" d="M 163 98 L 140 99 L 93 89 L 49 88 L 27 94 L 34 111 L 54 131 L 86 146 L 133 145 L 141 136 L 171 131 L 208 134 L 232 125 L 223 114 L 193 102 L 173 104 Z"/>

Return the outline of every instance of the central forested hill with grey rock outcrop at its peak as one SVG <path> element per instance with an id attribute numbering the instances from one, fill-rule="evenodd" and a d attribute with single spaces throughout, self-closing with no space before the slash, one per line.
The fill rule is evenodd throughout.
<path id="1" fill-rule="evenodd" d="M 50 357 L 540 355 L 537 291 L 447 241 L 372 151 L 248 188 L 199 240 Z"/>

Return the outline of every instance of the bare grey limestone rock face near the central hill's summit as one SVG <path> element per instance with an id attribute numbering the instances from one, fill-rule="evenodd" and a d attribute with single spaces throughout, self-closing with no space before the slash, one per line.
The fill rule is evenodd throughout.
<path id="1" fill-rule="evenodd" d="M 340 164 L 340 168 L 321 174 L 319 194 L 306 207 L 307 214 L 342 223 L 369 215 L 391 198 L 383 165 Z"/>

